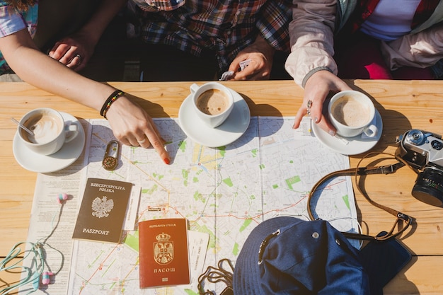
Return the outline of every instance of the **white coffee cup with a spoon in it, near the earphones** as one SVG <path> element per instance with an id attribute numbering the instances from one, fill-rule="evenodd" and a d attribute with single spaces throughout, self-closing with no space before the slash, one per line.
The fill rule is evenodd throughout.
<path id="1" fill-rule="evenodd" d="M 31 135 L 17 127 L 22 144 L 42 155 L 56 153 L 79 134 L 77 125 L 64 122 L 62 115 L 51 108 L 30 110 L 21 118 L 20 123 L 34 133 Z"/>

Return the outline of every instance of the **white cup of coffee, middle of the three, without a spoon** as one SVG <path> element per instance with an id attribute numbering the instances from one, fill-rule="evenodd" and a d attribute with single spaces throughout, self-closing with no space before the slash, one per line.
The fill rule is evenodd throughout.
<path id="1" fill-rule="evenodd" d="M 226 86 L 208 82 L 202 86 L 190 86 L 192 105 L 200 119 L 209 127 L 223 124 L 234 109 L 234 96 Z"/>

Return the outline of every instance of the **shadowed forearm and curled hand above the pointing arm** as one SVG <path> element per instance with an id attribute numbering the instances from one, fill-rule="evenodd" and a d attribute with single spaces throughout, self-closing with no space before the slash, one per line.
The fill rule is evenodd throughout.
<path id="1" fill-rule="evenodd" d="M 105 28 L 127 0 L 102 0 L 89 21 L 76 33 L 64 37 L 50 50 L 50 57 L 79 71 L 91 58 Z M 76 54 L 80 55 L 76 57 Z"/>

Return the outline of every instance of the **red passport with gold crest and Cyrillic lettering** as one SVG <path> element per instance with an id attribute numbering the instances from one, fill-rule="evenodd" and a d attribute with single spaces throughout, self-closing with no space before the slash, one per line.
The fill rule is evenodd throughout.
<path id="1" fill-rule="evenodd" d="M 186 219 L 139 222 L 140 288 L 190 284 Z"/>

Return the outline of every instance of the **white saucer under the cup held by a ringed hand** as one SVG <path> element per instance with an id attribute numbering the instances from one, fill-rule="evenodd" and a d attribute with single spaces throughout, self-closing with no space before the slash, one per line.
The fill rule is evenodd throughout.
<path id="1" fill-rule="evenodd" d="M 375 125 L 379 129 L 375 137 L 362 137 L 358 135 L 357 137 L 350 137 L 346 140 L 348 144 L 343 143 L 337 137 L 331 137 L 328 132 L 324 131 L 318 125 L 312 124 L 313 134 L 316 135 L 319 141 L 329 149 L 336 151 L 343 155 L 357 155 L 362 154 L 365 151 L 372 149 L 381 138 L 381 133 L 383 132 L 383 122 L 381 121 L 381 115 L 378 110 L 375 110 Z"/>

